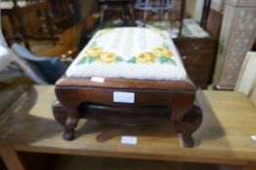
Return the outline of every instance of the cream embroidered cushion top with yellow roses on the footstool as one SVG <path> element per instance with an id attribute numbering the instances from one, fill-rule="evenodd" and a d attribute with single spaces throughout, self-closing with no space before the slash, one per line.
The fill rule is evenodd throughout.
<path id="1" fill-rule="evenodd" d="M 187 73 L 167 33 L 124 27 L 98 31 L 66 76 L 182 81 Z"/>

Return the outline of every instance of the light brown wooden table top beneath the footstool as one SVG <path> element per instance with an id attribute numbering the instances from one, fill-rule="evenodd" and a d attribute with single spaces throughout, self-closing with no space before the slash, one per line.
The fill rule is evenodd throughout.
<path id="1" fill-rule="evenodd" d="M 0 144 L 17 151 L 132 157 L 191 162 L 246 164 L 256 161 L 256 107 L 245 95 L 232 91 L 199 91 L 203 122 L 193 134 L 195 147 L 183 147 L 170 126 L 120 126 L 81 120 L 76 139 L 63 140 L 51 105 L 54 86 L 37 85 L 24 93 L 0 117 Z M 122 136 L 136 136 L 137 145 L 121 144 Z"/>

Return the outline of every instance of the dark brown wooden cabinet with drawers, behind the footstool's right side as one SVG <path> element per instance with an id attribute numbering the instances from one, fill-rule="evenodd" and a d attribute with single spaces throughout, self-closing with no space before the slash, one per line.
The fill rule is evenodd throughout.
<path id="1" fill-rule="evenodd" d="M 212 82 L 217 41 L 211 38 L 181 37 L 174 42 L 192 82 L 200 88 L 206 88 Z"/>

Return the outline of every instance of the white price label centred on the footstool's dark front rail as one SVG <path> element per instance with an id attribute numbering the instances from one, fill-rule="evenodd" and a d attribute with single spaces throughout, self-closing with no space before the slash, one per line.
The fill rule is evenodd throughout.
<path id="1" fill-rule="evenodd" d="M 113 91 L 113 101 L 118 103 L 134 103 L 134 92 Z"/>

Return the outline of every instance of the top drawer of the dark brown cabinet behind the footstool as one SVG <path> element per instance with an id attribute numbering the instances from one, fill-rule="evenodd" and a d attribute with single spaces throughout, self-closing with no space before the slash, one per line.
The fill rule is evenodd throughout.
<path id="1" fill-rule="evenodd" d="M 182 60 L 185 65 L 196 64 L 196 65 L 213 65 L 214 55 L 213 54 L 192 54 L 182 55 Z"/>

